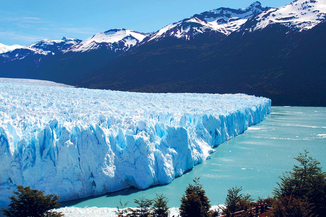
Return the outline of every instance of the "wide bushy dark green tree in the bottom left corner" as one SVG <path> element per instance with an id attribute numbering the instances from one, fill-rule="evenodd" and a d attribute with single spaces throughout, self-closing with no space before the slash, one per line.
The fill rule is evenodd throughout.
<path id="1" fill-rule="evenodd" d="M 13 191 L 16 196 L 8 197 L 11 202 L 7 209 L 2 209 L 8 217 L 61 217 L 61 212 L 50 211 L 60 205 L 59 197 L 54 194 L 44 195 L 44 191 L 30 189 L 29 186 L 17 186 Z"/>

